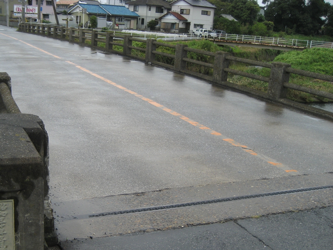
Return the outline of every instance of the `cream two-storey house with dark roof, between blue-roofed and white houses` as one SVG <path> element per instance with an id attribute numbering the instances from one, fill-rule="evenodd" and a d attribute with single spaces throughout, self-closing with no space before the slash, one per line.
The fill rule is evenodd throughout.
<path id="1" fill-rule="evenodd" d="M 147 23 L 157 20 L 171 10 L 171 6 L 162 0 L 136 0 L 126 2 L 129 10 L 137 13 L 139 17 L 138 29 L 147 28 Z"/>

